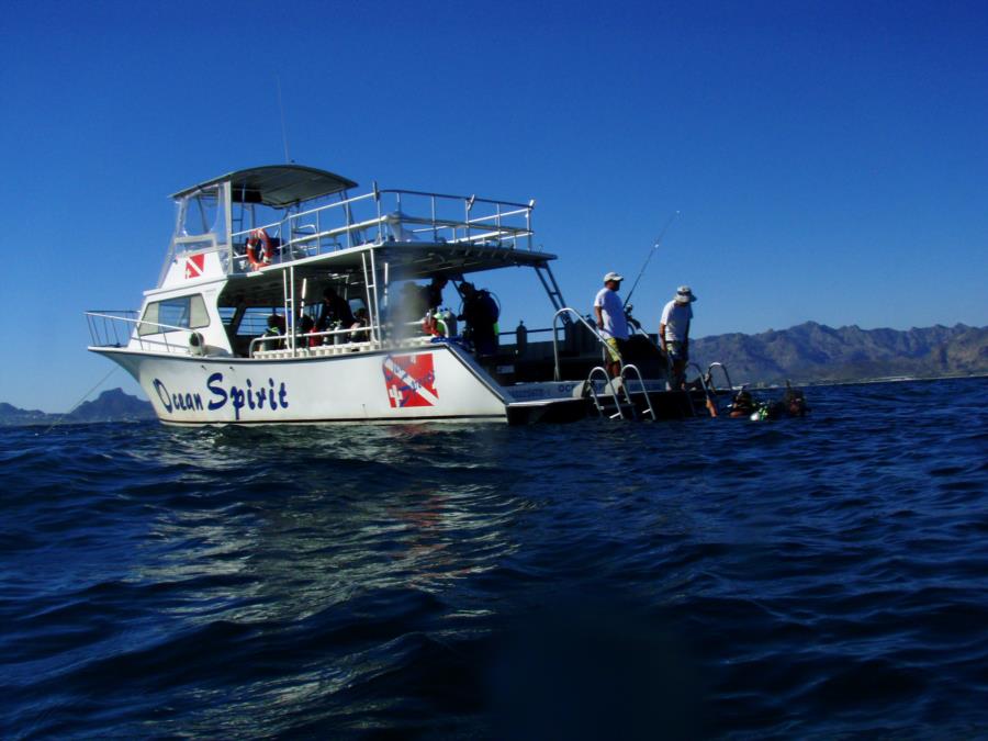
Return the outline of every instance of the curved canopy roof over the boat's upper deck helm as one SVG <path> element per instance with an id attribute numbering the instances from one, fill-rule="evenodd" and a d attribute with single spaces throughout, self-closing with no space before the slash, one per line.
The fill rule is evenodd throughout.
<path id="1" fill-rule="evenodd" d="M 332 195 L 357 183 L 326 170 L 304 165 L 267 165 L 237 170 L 228 175 L 206 180 L 192 188 L 175 193 L 179 199 L 198 190 L 228 180 L 234 203 L 261 203 L 274 209 L 283 209 L 301 201 L 311 201 L 323 195 Z"/>

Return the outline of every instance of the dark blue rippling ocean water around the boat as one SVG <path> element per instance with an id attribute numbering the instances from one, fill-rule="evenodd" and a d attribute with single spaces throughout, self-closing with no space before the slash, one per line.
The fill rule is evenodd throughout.
<path id="1" fill-rule="evenodd" d="M 988 380 L 0 430 L 0 737 L 988 737 Z"/>

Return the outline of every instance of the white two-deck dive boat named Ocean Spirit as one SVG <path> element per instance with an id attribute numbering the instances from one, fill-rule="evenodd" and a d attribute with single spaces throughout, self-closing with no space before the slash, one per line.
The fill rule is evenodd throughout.
<path id="1" fill-rule="evenodd" d="M 665 391 L 664 360 L 643 333 L 624 383 L 607 380 L 600 338 L 565 306 L 549 268 L 555 256 L 532 246 L 534 201 L 356 188 L 276 165 L 176 193 L 157 287 L 139 312 L 87 312 L 89 349 L 126 369 L 161 422 L 177 425 L 701 411 L 696 394 Z M 449 313 L 424 321 L 426 289 L 414 281 L 445 278 L 459 302 L 464 277 L 509 267 L 538 276 L 551 327 L 501 333 L 482 355 Z M 338 299 L 324 306 L 327 289 Z M 345 326 L 329 323 L 334 306 Z M 549 339 L 529 340 L 535 333 Z"/>

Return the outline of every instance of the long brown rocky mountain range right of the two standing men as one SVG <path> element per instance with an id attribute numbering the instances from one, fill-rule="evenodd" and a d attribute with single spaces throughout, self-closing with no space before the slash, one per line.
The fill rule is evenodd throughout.
<path id="1" fill-rule="evenodd" d="M 988 327 L 833 329 L 807 322 L 757 335 L 717 335 L 691 341 L 704 368 L 725 363 L 737 383 L 860 381 L 889 377 L 988 373 Z"/>

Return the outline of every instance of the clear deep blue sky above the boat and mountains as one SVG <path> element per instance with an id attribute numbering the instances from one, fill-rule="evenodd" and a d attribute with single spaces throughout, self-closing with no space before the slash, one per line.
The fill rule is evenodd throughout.
<path id="1" fill-rule="evenodd" d="M 64 411 L 110 370 L 167 199 L 290 156 L 369 186 L 535 198 L 569 304 L 638 274 L 653 330 L 988 324 L 979 2 L 4 3 L 0 401 Z M 630 280 L 625 290 L 630 288 Z M 547 326 L 534 277 L 503 326 Z M 108 386 L 136 385 L 122 371 Z"/>

